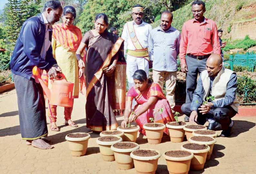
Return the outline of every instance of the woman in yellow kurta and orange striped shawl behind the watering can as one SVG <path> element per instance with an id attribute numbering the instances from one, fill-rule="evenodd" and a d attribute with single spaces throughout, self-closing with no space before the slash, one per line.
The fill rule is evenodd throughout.
<path id="1" fill-rule="evenodd" d="M 79 77 L 83 75 L 84 62 L 82 59 L 77 60 L 75 52 L 82 40 L 81 30 L 73 25 L 76 17 L 75 8 L 65 6 L 62 13 L 62 23 L 53 26 L 52 48 L 53 56 L 60 66 L 62 73 L 68 82 L 74 83 L 73 99 L 78 98 L 79 94 Z M 79 70 L 78 70 L 79 68 Z M 51 85 L 51 83 L 49 83 Z M 74 100 L 73 100 L 74 103 Z M 64 107 L 65 125 L 78 127 L 71 120 L 72 107 Z M 48 108 L 48 117 L 50 119 L 50 129 L 60 131 L 56 125 L 57 105 L 50 105 Z"/>

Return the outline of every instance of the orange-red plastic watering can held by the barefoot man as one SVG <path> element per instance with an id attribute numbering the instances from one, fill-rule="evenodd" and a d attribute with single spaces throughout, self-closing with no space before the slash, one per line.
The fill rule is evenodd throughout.
<path id="1" fill-rule="evenodd" d="M 73 106 L 73 88 L 74 83 L 67 82 L 65 80 L 64 74 L 60 74 L 63 78 L 54 80 L 52 83 L 52 89 L 46 86 L 44 81 L 41 79 L 40 69 L 34 66 L 32 73 L 36 79 L 38 79 L 41 84 L 44 93 L 46 94 L 50 105 L 58 105 L 63 107 Z"/>

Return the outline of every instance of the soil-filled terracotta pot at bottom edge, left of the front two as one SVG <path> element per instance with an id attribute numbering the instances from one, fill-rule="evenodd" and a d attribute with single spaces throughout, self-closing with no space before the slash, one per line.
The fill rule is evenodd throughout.
<path id="1" fill-rule="evenodd" d="M 140 150 L 153 151 L 156 152 L 157 154 L 153 156 L 138 156 L 134 154 L 136 153 L 136 151 Z M 161 157 L 161 153 L 153 149 L 138 149 L 131 152 L 131 157 L 133 158 L 134 167 L 137 174 L 155 174 L 155 171 L 157 169 L 157 162 L 158 159 Z"/>

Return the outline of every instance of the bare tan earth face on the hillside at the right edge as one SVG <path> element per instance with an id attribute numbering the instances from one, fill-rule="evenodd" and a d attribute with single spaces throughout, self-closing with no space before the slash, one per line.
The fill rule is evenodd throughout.
<path id="1" fill-rule="evenodd" d="M 246 35 L 249 35 L 251 39 L 256 39 L 256 20 L 250 22 L 238 22 L 233 23 L 231 28 L 232 40 L 244 39 Z"/>

